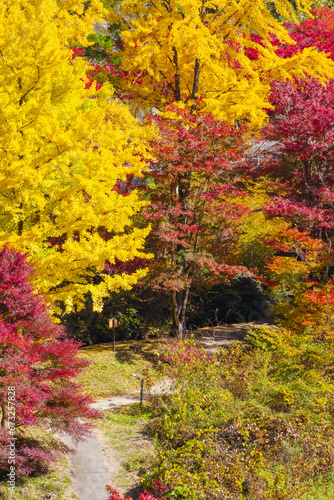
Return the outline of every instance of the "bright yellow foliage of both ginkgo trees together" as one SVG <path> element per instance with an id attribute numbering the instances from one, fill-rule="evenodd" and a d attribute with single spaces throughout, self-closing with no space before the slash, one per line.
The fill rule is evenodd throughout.
<path id="1" fill-rule="evenodd" d="M 297 7 L 307 13 L 310 3 Z M 288 0 L 275 6 L 295 19 Z M 131 93 L 132 111 L 178 101 L 257 129 L 272 79 L 334 76 L 333 62 L 315 49 L 276 56 L 272 33 L 292 41 L 263 0 L 124 0 L 108 15 L 123 25 L 119 91 Z M 145 202 L 114 188 L 140 175 L 152 133 L 110 85 L 85 88 L 88 64 L 72 57 L 72 41 L 85 45 L 105 16 L 100 0 L 0 5 L 0 241 L 30 253 L 37 290 L 67 311 L 82 307 L 88 292 L 99 309 L 110 291 L 145 274 L 102 273 L 106 260 L 144 256 L 149 228 L 134 228 L 133 217 Z M 254 49 L 259 57 L 251 59 Z"/>

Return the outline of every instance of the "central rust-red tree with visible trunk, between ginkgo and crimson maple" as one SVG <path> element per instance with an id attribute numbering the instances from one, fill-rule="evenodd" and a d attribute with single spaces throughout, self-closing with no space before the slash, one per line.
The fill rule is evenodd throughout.
<path id="1" fill-rule="evenodd" d="M 236 226 L 247 210 L 238 186 L 244 145 L 243 130 L 212 115 L 170 111 L 175 118 L 152 118 L 159 137 L 151 142 L 156 160 L 146 176 L 145 218 L 155 255 L 151 284 L 171 292 L 173 330 L 182 338 L 191 287 L 250 274 L 233 255 Z"/>

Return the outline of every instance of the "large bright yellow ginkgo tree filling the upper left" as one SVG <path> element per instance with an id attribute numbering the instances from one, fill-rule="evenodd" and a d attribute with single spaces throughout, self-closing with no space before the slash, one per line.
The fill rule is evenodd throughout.
<path id="1" fill-rule="evenodd" d="M 99 309 L 145 272 L 103 273 L 143 255 L 148 233 L 133 227 L 136 192 L 115 189 L 143 168 L 143 129 L 107 84 L 86 88 L 87 62 L 68 47 L 103 13 L 96 0 L 0 4 L 1 245 L 29 252 L 37 290 L 67 311 L 89 292 Z"/>

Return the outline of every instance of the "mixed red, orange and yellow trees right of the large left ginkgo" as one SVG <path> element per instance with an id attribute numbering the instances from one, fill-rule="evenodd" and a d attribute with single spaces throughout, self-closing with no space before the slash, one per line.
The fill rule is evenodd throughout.
<path id="1" fill-rule="evenodd" d="M 115 93 L 153 114 L 145 282 L 171 292 L 179 337 L 193 288 L 247 276 L 290 314 L 297 293 L 330 282 L 333 13 L 311 7 L 124 1 L 110 13 Z"/>

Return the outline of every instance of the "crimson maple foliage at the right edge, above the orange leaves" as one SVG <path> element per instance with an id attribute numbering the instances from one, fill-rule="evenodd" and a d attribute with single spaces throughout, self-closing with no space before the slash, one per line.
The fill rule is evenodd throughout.
<path id="1" fill-rule="evenodd" d="M 314 14 L 298 26 L 288 25 L 296 45 L 278 44 L 281 57 L 315 46 L 334 58 L 334 14 L 328 8 Z M 273 189 L 266 210 L 329 242 L 334 224 L 334 80 L 326 86 L 312 78 L 273 82 L 271 103 L 272 123 L 263 137 L 272 146 L 260 173 L 270 174 L 276 193 Z"/>

